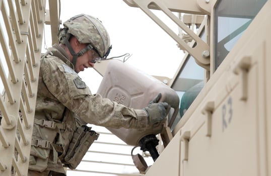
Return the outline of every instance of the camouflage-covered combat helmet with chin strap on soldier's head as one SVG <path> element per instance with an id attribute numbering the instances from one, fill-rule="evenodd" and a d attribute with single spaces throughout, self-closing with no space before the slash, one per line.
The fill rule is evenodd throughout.
<path id="1" fill-rule="evenodd" d="M 80 14 L 63 23 L 64 28 L 58 32 L 59 43 L 65 44 L 73 55 L 73 64 L 76 60 L 88 50 L 93 49 L 101 58 L 105 60 L 112 48 L 109 35 L 102 22 L 95 17 L 86 14 Z M 71 34 L 77 38 L 80 43 L 89 44 L 80 52 L 75 53 L 69 43 Z"/>

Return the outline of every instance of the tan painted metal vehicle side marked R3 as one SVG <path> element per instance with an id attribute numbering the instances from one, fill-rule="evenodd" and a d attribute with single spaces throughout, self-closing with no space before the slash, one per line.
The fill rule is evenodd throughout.
<path id="1" fill-rule="evenodd" d="M 134 0 L 129 5 L 140 3 Z M 211 26 L 205 29 L 211 38 L 210 80 L 176 125 L 173 139 L 146 175 L 271 174 L 268 109 L 271 26 L 266 23 L 271 15 L 271 2 L 266 2 L 215 70 L 216 3 L 211 3 L 208 22 Z"/>

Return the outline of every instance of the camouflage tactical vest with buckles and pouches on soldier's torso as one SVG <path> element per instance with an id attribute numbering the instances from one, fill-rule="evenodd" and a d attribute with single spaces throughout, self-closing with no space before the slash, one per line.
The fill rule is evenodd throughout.
<path id="1" fill-rule="evenodd" d="M 54 52 L 48 51 L 43 57 L 59 54 L 57 50 Z M 41 78 L 38 91 L 42 94 L 36 103 L 29 169 L 64 173 L 62 164 L 75 169 L 99 134 L 86 123 L 82 124 L 76 114 L 59 103 L 46 89 Z M 50 101 L 47 104 L 48 98 Z"/>

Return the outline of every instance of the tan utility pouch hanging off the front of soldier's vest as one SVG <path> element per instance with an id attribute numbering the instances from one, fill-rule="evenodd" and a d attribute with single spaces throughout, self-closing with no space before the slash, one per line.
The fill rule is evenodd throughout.
<path id="1" fill-rule="evenodd" d="M 98 137 L 99 134 L 91 130 L 91 127 L 87 125 L 78 127 L 64 157 L 64 166 L 75 169 L 87 153 L 91 144 Z"/>

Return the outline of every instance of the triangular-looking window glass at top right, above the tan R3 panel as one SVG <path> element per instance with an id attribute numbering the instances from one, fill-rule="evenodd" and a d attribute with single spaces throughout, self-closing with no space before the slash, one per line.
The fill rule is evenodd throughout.
<path id="1" fill-rule="evenodd" d="M 215 7 L 215 69 L 267 0 L 220 0 Z"/>

